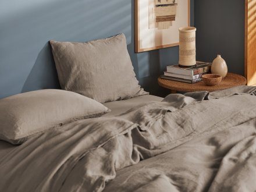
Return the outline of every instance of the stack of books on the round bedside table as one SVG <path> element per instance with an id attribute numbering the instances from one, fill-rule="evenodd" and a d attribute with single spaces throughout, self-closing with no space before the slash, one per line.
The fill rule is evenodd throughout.
<path id="1" fill-rule="evenodd" d="M 197 83 L 201 81 L 203 74 L 211 71 L 211 64 L 207 62 L 197 62 L 195 66 L 180 67 L 179 65 L 171 65 L 166 67 L 166 72 L 161 76 L 163 79 L 174 81 L 182 81 L 185 83 Z"/>

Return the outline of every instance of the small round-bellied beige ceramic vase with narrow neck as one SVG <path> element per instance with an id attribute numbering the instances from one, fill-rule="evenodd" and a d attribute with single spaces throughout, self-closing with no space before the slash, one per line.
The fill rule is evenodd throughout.
<path id="1" fill-rule="evenodd" d="M 217 57 L 212 62 L 211 73 L 220 74 L 222 79 L 227 75 L 227 64 L 224 59 L 222 59 L 221 55 L 217 55 Z"/>

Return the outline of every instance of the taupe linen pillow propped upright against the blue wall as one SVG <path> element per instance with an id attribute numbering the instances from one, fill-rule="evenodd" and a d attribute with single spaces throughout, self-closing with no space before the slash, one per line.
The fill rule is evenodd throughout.
<path id="1" fill-rule="evenodd" d="M 102 103 L 148 94 L 138 85 L 124 34 L 90 42 L 50 43 L 63 90 Z"/>

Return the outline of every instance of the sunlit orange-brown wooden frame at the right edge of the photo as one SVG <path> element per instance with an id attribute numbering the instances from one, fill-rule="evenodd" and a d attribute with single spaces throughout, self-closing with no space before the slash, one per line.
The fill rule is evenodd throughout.
<path id="1" fill-rule="evenodd" d="M 245 0 L 244 76 L 256 85 L 256 0 Z"/>

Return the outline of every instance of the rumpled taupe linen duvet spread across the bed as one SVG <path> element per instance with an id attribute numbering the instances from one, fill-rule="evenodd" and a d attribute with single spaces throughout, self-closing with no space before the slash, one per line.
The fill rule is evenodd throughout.
<path id="1" fill-rule="evenodd" d="M 255 191 L 255 94 L 171 94 L 51 129 L 0 157 L 0 191 Z"/>

